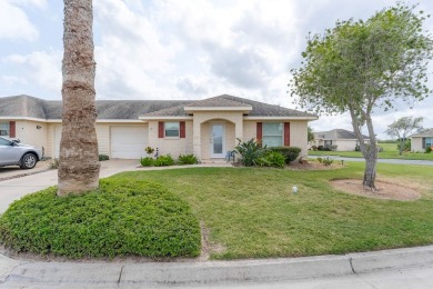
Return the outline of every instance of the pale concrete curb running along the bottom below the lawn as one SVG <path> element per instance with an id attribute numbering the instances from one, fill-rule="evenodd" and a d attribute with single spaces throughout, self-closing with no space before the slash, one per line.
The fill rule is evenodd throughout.
<path id="1" fill-rule="evenodd" d="M 0 268 L 4 268 L 6 262 L 10 263 L 11 271 L 0 279 L 0 285 L 8 286 L 216 285 L 338 277 L 431 266 L 433 246 L 343 256 L 209 262 L 22 263 L 0 256 Z"/>

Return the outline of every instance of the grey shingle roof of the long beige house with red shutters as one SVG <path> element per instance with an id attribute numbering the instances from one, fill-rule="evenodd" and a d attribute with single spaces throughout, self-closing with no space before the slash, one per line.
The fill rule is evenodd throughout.
<path id="1" fill-rule="evenodd" d="M 251 107 L 250 117 L 313 117 L 315 114 L 222 94 L 204 100 L 97 100 L 98 119 L 137 120 L 139 117 L 183 117 L 184 107 Z M 0 117 L 61 119 L 61 100 L 43 100 L 30 96 L 0 98 Z"/>

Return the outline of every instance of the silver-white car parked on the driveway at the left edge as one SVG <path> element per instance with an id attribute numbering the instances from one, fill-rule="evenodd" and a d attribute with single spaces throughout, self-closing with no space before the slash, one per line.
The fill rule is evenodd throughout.
<path id="1" fill-rule="evenodd" d="M 32 169 L 42 158 L 41 151 L 29 144 L 0 137 L 0 167 L 20 166 Z"/>

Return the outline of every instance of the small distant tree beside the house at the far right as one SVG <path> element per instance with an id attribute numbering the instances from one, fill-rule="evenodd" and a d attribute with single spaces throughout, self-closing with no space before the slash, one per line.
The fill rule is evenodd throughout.
<path id="1" fill-rule="evenodd" d="M 399 153 L 402 156 L 403 149 L 405 148 L 405 142 L 407 141 L 407 137 L 414 132 L 420 132 L 424 130 L 421 126 L 424 118 L 413 118 L 413 117 L 403 117 L 387 126 L 386 134 L 392 138 L 396 138 L 399 141 Z"/>

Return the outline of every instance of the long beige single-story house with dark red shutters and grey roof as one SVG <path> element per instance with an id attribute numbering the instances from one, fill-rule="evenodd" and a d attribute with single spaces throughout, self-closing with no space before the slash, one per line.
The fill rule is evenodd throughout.
<path id="1" fill-rule="evenodd" d="M 43 148 L 58 158 L 61 101 L 29 96 L 0 98 L 0 134 Z M 194 153 L 200 160 L 223 159 L 236 139 L 296 146 L 306 156 L 308 121 L 316 116 L 259 101 L 218 96 L 191 100 L 97 100 L 99 153 L 139 159 L 144 148 L 159 155 Z"/>

